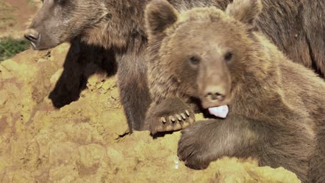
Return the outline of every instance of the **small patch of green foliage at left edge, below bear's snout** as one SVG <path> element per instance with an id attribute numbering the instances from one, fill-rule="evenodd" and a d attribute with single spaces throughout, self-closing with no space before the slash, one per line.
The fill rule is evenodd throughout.
<path id="1" fill-rule="evenodd" d="M 15 40 L 11 37 L 0 38 L 0 62 L 29 48 L 27 40 Z"/>

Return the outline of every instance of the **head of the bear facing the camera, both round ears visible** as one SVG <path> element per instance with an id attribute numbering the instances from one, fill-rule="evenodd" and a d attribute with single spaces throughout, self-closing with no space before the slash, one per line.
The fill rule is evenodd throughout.
<path id="1" fill-rule="evenodd" d="M 184 12 L 165 0 L 151 1 L 145 11 L 150 62 L 161 71 L 153 74 L 169 80 L 165 87 L 178 94 L 199 98 L 203 108 L 227 105 L 246 76 L 263 73 L 254 51 L 261 10 L 260 0 L 234 0 L 225 11 Z"/>

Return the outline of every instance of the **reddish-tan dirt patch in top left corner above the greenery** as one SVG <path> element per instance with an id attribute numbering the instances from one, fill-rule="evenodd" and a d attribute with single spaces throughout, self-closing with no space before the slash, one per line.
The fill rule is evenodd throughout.
<path id="1" fill-rule="evenodd" d="M 22 38 L 40 6 L 38 0 L 1 0 L 0 37 Z"/>

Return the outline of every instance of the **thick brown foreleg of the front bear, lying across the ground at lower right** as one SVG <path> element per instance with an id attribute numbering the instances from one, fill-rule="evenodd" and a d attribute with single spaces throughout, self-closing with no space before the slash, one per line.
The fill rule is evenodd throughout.
<path id="1" fill-rule="evenodd" d="M 235 114 L 226 119 L 197 121 L 181 131 L 178 158 L 190 168 L 203 169 L 224 156 L 252 157 L 260 166 L 283 166 L 296 173 L 301 182 L 308 182 L 308 157 L 313 151 L 313 141 L 309 141 L 306 134 L 303 136 L 304 132 L 286 129 L 283 123 L 276 123 Z M 324 165 L 317 164 L 319 167 Z M 319 173 L 321 171 L 314 172 L 317 179 L 324 179 Z"/>

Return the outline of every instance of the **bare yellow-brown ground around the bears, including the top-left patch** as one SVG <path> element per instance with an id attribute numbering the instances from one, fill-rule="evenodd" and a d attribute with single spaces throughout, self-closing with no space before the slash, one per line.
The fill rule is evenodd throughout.
<path id="1" fill-rule="evenodd" d="M 0 1 L 0 37 L 22 37 L 35 8 Z M 0 182 L 299 182 L 252 159 L 194 171 L 176 156 L 180 132 L 129 134 L 111 57 L 76 41 L 1 62 Z"/>

